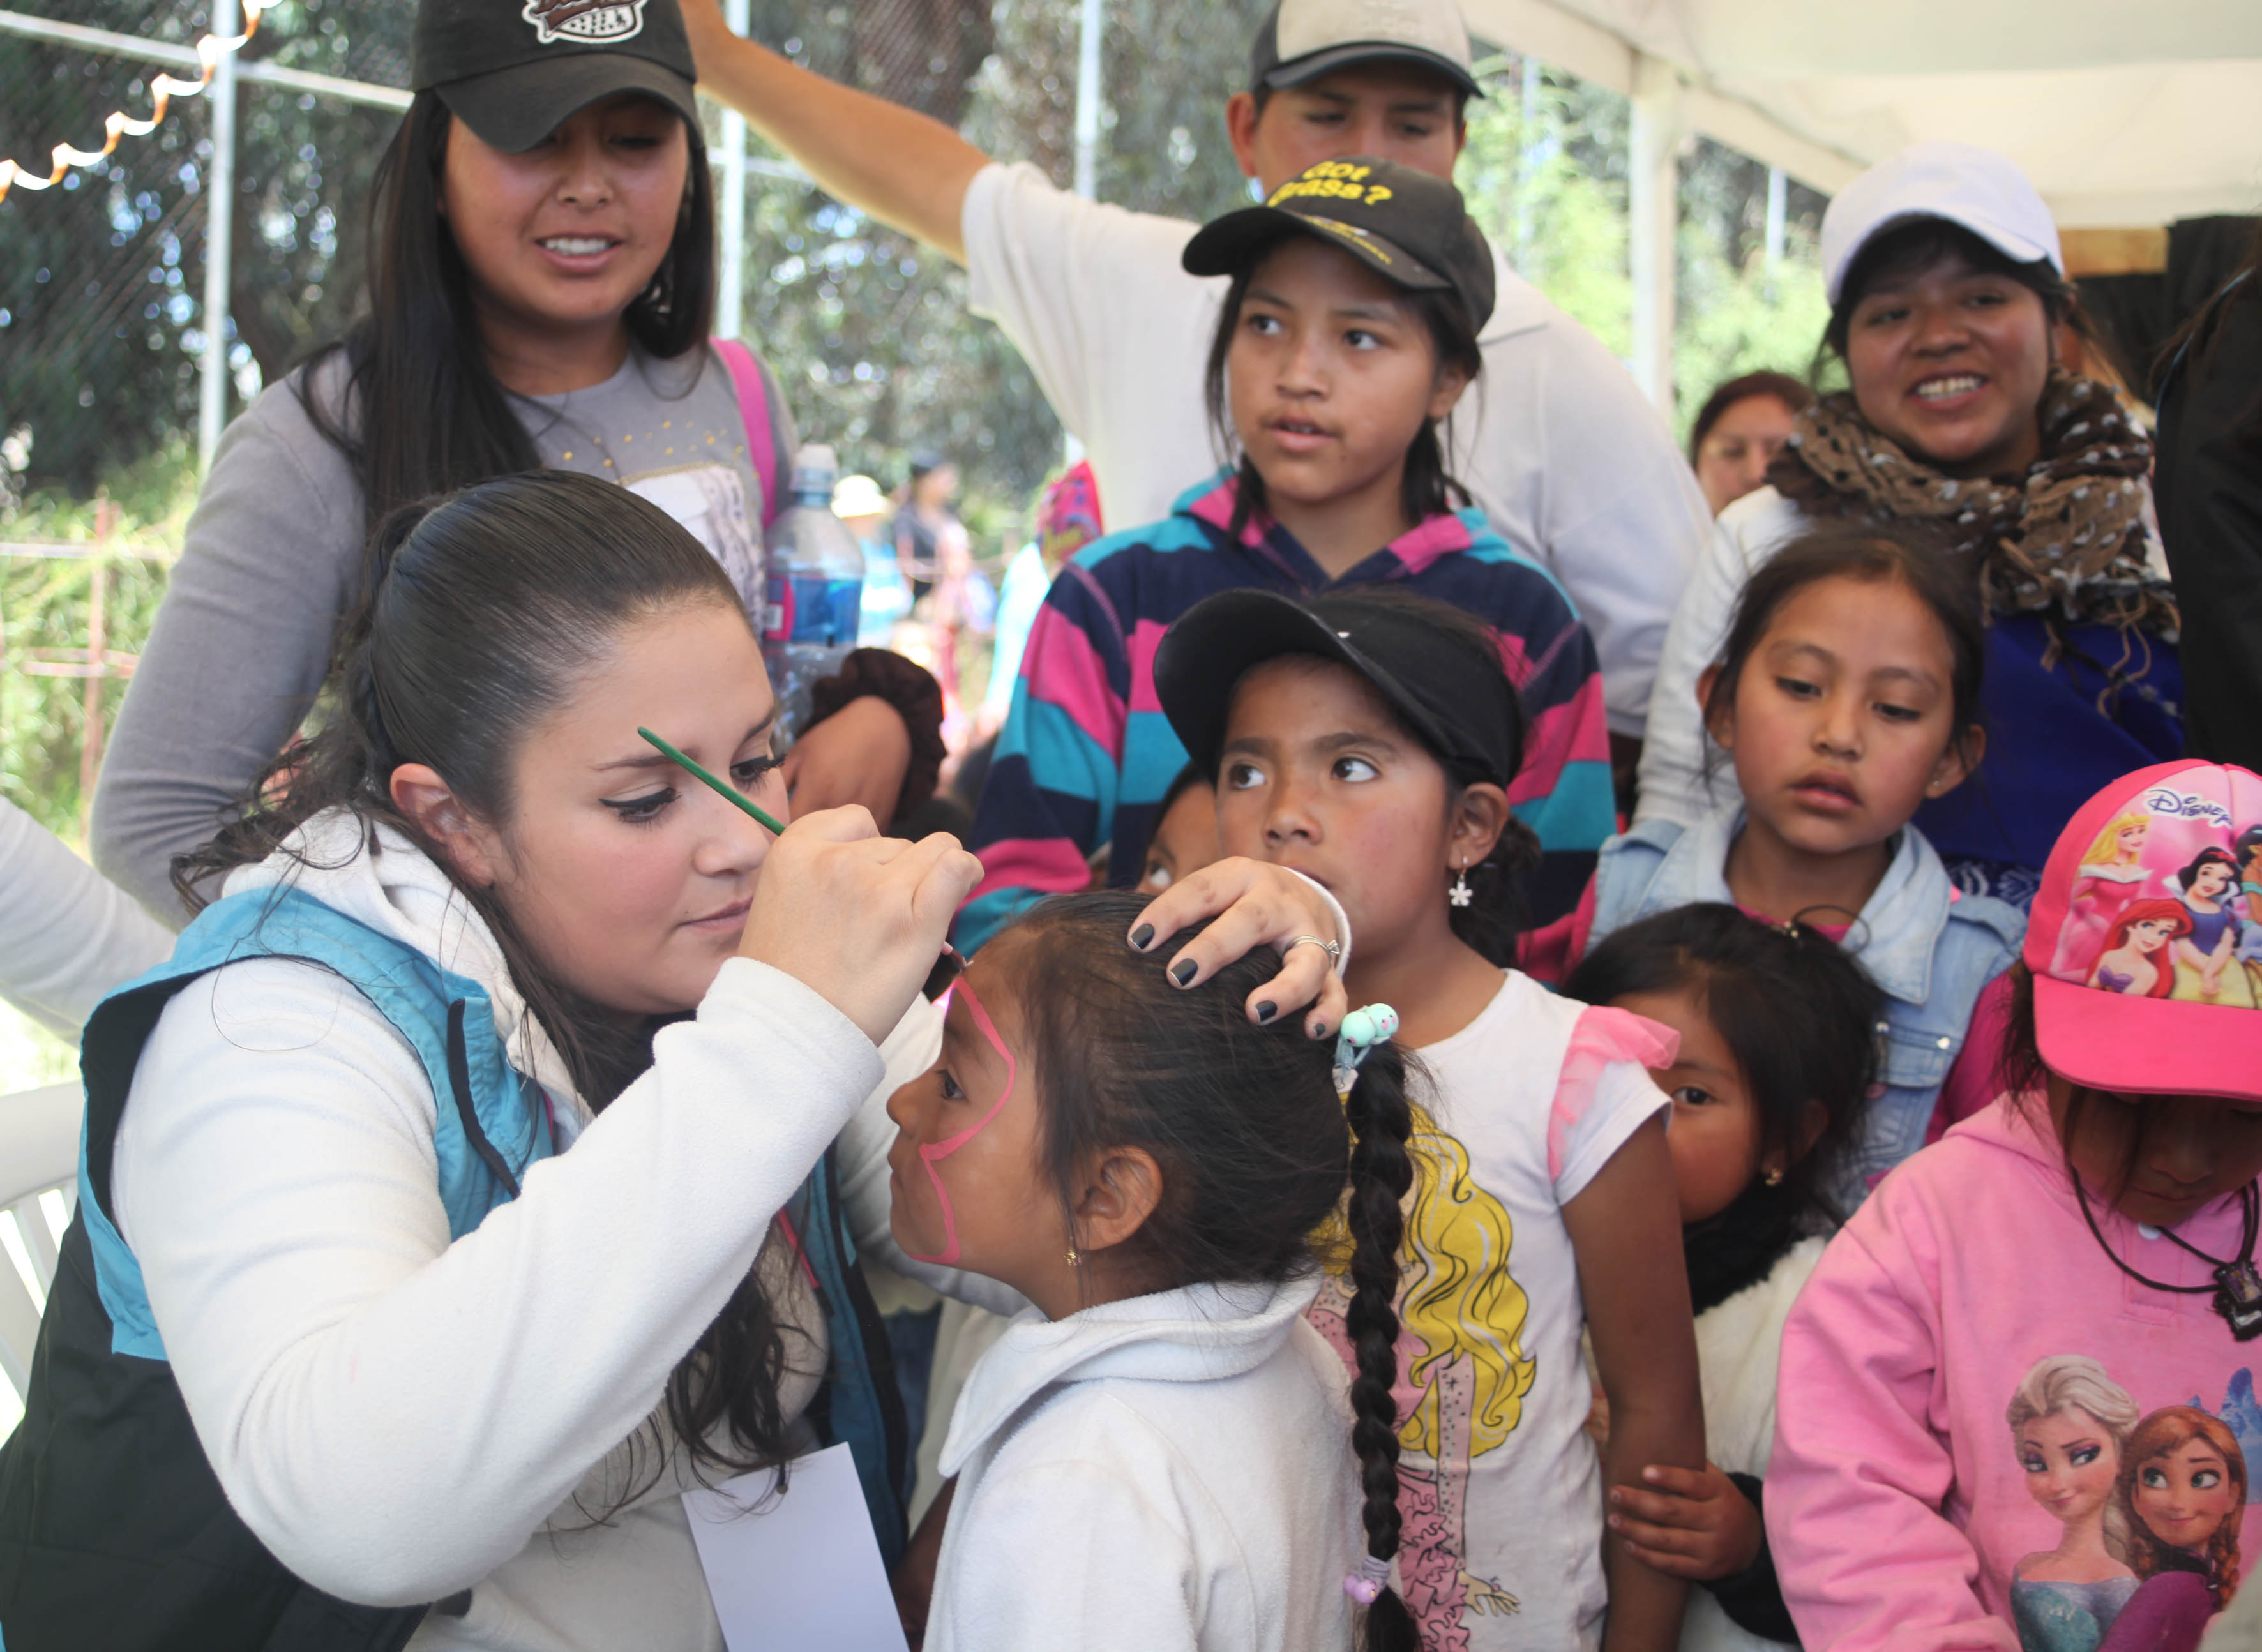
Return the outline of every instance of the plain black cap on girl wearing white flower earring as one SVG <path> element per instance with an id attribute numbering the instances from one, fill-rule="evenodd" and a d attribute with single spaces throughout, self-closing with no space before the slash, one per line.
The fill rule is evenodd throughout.
<path id="1" fill-rule="evenodd" d="M 1339 591 L 1307 602 L 1278 591 L 1219 591 L 1163 634 L 1154 690 L 1188 756 L 1215 776 L 1242 677 L 1283 654 L 1316 654 L 1373 683 L 1457 785 L 1504 788 L 1525 760 L 1522 704 L 1497 654 L 1439 645 L 1436 606 L 1400 591 Z"/>

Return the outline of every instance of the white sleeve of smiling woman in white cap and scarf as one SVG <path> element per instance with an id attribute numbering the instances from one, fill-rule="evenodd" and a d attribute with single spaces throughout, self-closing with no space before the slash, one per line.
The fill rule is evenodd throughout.
<path id="1" fill-rule="evenodd" d="M 1760 489 L 1721 511 L 1665 631 L 1658 686 L 1649 699 L 1649 735 L 1642 742 L 1635 821 L 1692 824 L 1737 797 L 1735 769 L 1726 754 L 1712 758 L 1712 778 L 1706 778 L 1706 756 L 1715 747 L 1696 708 L 1696 679 L 1728 640 L 1744 582 L 1776 554 L 1798 523 L 1798 509 L 1773 489 Z"/>

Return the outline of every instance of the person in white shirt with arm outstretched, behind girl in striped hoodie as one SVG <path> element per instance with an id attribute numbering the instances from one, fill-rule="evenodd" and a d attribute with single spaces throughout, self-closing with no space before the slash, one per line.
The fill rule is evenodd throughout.
<path id="1" fill-rule="evenodd" d="M 683 11 L 708 91 L 826 190 L 968 267 L 973 308 L 1007 330 L 1090 453 L 1113 525 L 1163 516 L 1215 468 L 1199 385 L 1221 283 L 1181 269 L 1192 224 L 991 163 L 925 115 L 740 41 L 715 0 Z M 1452 0 L 1283 0 L 1226 129 L 1267 195 L 1353 154 L 1450 177 L 1473 95 Z M 1640 740 L 1665 622 L 1710 532 L 1706 502 L 1624 367 L 1493 263 L 1497 303 L 1479 337 L 1491 382 L 1457 421 L 1452 468 L 1500 536 L 1565 584 L 1601 652 L 1611 731 Z"/>

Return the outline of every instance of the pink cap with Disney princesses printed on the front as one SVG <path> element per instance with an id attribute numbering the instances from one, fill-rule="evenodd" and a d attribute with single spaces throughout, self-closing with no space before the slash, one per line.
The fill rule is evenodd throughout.
<path id="1" fill-rule="evenodd" d="M 2024 960 L 2054 1073 L 2262 1098 L 2262 776 L 2160 763 L 2083 803 L 2049 851 Z"/>

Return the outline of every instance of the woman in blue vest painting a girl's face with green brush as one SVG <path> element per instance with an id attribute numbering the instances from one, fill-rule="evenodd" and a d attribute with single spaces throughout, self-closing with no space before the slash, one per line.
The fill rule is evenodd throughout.
<path id="1" fill-rule="evenodd" d="M 789 815 L 731 579 L 627 489 L 482 482 L 369 579 L 337 711 L 188 867 L 219 898 L 88 1021 L 9 1652 L 722 1652 L 679 1494 L 828 1442 L 903 1546 L 857 1254 L 905 1265 L 882 1104 L 973 858 L 771 835 L 638 738 Z M 1140 941 L 1237 894 L 1242 946 L 1341 932 L 1221 862 Z"/>

